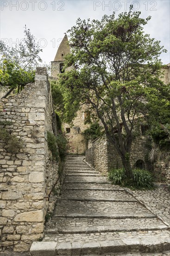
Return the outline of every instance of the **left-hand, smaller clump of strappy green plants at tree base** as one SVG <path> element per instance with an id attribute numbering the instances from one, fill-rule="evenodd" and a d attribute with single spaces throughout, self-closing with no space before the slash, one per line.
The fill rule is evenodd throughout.
<path id="1" fill-rule="evenodd" d="M 113 182 L 113 184 L 122 184 L 123 180 L 126 178 L 125 169 L 113 169 L 108 174 L 109 180 Z"/>

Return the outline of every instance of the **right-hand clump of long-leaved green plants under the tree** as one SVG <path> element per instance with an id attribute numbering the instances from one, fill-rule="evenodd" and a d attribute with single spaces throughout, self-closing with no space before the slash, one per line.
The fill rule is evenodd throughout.
<path id="1" fill-rule="evenodd" d="M 153 178 L 150 172 L 143 169 L 133 169 L 132 173 L 137 187 L 153 187 Z"/>

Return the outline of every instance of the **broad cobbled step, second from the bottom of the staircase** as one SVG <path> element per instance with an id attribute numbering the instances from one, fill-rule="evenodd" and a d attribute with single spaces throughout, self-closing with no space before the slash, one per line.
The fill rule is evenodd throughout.
<path id="1" fill-rule="evenodd" d="M 138 230 L 167 229 L 157 218 L 140 219 L 99 219 L 99 218 L 64 218 L 52 219 L 46 234 L 121 232 Z"/>

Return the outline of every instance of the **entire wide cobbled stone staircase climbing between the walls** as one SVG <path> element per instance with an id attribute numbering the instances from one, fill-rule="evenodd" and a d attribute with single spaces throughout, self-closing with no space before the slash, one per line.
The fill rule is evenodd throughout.
<path id="1" fill-rule="evenodd" d="M 168 250 L 170 230 L 164 222 L 125 189 L 112 185 L 84 157 L 68 157 L 61 196 L 44 240 L 34 242 L 30 252 L 32 256 L 160 256 Z"/>

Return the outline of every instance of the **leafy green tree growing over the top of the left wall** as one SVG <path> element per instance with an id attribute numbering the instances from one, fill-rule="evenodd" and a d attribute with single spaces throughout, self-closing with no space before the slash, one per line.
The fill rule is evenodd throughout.
<path id="1" fill-rule="evenodd" d="M 0 40 L 0 86 L 8 86 L 9 93 L 16 87 L 22 88 L 25 84 L 33 82 L 35 68 L 42 62 L 39 57 L 42 49 L 26 26 L 24 34 L 25 38 L 19 46 L 8 47 Z"/>

